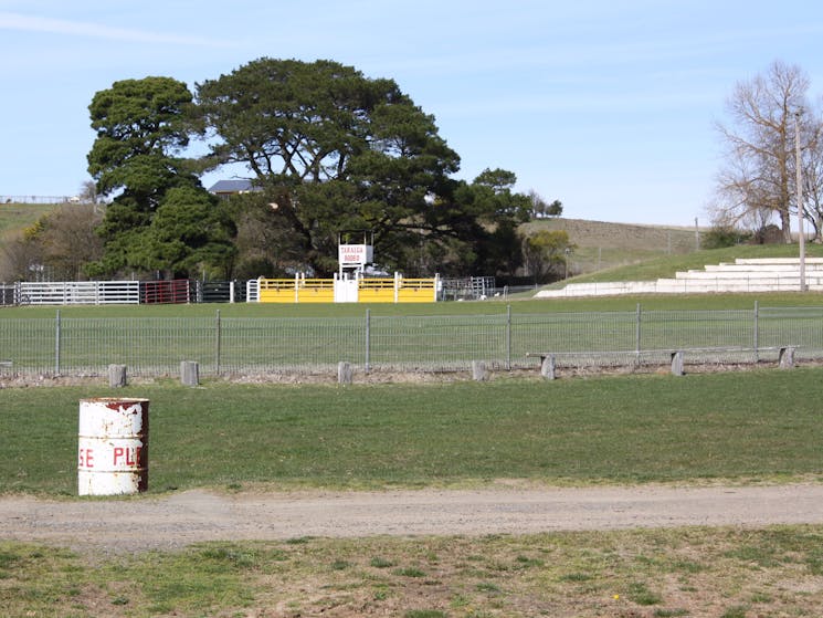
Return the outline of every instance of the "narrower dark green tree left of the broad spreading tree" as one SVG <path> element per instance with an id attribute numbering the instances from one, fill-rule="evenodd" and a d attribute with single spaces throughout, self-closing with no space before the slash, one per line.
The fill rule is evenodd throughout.
<path id="1" fill-rule="evenodd" d="M 88 171 L 102 195 L 114 195 L 98 228 L 105 241 L 102 260 L 89 266 L 99 276 L 124 270 L 166 271 L 170 275 L 199 273 L 205 266 L 224 269 L 225 251 L 202 251 L 209 241 L 199 239 L 186 251 L 180 243 L 191 235 L 178 235 L 188 226 L 191 209 L 200 209 L 204 230 L 214 242 L 224 243 L 228 228 L 200 185 L 196 166 L 182 156 L 193 133 L 196 117 L 192 94 L 182 82 L 170 77 L 145 77 L 115 82 L 95 94 L 88 107 L 97 136 L 88 153 Z M 176 196 L 171 192 L 178 190 Z M 180 196 L 191 208 L 179 205 Z M 163 216 L 157 214 L 166 205 Z M 183 220 L 176 221 L 180 214 Z M 165 229 L 163 229 L 165 228 Z M 168 247 L 159 247 L 163 239 Z M 173 247 L 173 248 L 172 248 Z M 151 251 L 149 251 L 151 248 Z M 200 255 L 197 268 L 191 255 Z"/>

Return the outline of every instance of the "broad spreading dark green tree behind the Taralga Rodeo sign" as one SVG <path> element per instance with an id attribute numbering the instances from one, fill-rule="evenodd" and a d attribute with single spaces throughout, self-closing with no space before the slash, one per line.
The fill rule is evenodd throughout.
<path id="1" fill-rule="evenodd" d="M 289 255 L 279 259 L 293 268 L 329 274 L 338 234 L 367 230 L 388 269 L 457 274 L 499 259 L 495 234 L 514 242 L 527 212 L 514 175 L 455 180 L 460 157 L 391 80 L 331 61 L 260 59 L 199 84 L 197 104 L 210 165 L 249 168 L 262 189 L 249 198 L 254 219 L 283 227 Z"/>

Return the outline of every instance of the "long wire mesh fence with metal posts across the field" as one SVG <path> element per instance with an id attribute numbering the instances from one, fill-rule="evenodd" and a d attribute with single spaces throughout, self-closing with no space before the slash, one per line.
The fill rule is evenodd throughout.
<path id="1" fill-rule="evenodd" d="M 767 360 L 780 346 L 798 360 L 823 357 L 823 307 L 642 311 L 466 316 L 0 318 L 0 375 L 175 375 L 181 360 L 203 375 L 318 373 L 348 362 L 363 370 L 465 370 L 666 363 L 665 350 L 728 348 L 707 363 Z M 734 349 L 748 350 L 743 357 Z M 658 358 L 660 357 L 660 358 Z M 689 355 L 689 362 L 698 362 Z"/>

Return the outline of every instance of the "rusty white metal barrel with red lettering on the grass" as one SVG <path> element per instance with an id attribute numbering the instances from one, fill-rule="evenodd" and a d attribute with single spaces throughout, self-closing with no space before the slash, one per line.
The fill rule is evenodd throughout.
<path id="1" fill-rule="evenodd" d="M 117 495 L 146 491 L 148 437 L 148 399 L 82 399 L 77 494 Z"/>

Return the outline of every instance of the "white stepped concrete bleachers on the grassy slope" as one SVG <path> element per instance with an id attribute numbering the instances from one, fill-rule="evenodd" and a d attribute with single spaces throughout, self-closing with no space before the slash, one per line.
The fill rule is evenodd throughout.
<path id="1" fill-rule="evenodd" d="M 823 258 L 805 259 L 806 289 L 823 292 Z M 569 283 L 559 290 L 541 290 L 535 298 L 615 296 L 622 294 L 705 294 L 724 292 L 796 292 L 800 290 L 798 258 L 737 259 L 734 264 L 706 265 L 657 281 Z"/>

